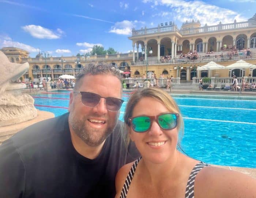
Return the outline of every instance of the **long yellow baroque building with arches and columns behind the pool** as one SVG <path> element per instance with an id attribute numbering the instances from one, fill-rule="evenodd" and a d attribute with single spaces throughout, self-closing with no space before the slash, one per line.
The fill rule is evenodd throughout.
<path id="1" fill-rule="evenodd" d="M 146 73 L 159 77 L 173 76 L 182 81 L 193 77 L 231 77 L 236 75 L 256 77 L 256 69 L 230 69 L 197 71 L 197 67 L 208 62 L 218 62 L 223 66 L 243 59 L 256 64 L 256 14 L 248 21 L 201 27 L 199 21 L 186 21 L 178 29 L 172 21 L 161 23 L 155 28 L 132 29 L 133 51 L 126 54 L 61 56 L 44 58 L 40 54 L 30 58 L 29 52 L 13 47 L 2 48 L 11 62 L 30 65 L 24 75 L 38 81 L 46 76 L 57 80 L 63 74 L 75 75 L 90 62 L 112 63 L 124 71 L 124 77 L 142 77 Z M 136 47 L 136 51 L 135 51 Z M 250 52 L 248 53 L 248 48 Z M 196 57 L 188 52 L 196 51 Z M 181 54 L 184 57 L 181 57 Z"/>

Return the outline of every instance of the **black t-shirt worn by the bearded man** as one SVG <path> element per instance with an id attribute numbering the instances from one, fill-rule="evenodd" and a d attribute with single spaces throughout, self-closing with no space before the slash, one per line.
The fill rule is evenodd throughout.
<path id="1" fill-rule="evenodd" d="M 125 147 L 123 122 L 92 160 L 73 147 L 68 115 L 36 123 L 3 142 L 0 197 L 114 197 L 118 169 L 139 156 L 134 144 Z"/>

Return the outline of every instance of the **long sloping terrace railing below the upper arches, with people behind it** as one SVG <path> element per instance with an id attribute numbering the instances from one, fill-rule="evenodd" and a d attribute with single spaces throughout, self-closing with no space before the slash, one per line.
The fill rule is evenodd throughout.
<path id="1" fill-rule="evenodd" d="M 256 53 L 251 54 L 251 56 L 246 56 L 243 53 L 240 52 L 240 54 L 237 55 L 204 55 L 199 56 L 199 58 L 193 59 L 193 58 L 176 58 L 176 59 L 170 59 L 170 60 L 159 60 L 157 58 L 148 60 L 148 64 L 193 64 L 193 63 L 204 63 L 204 62 L 225 62 L 225 61 L 234 61 L 234 60 L 250 60 L 250 59 L 256 59 Z M 146 60 L 137 60 L 135 62 L 131 62 L 132 65 L 146 65 Z"/>

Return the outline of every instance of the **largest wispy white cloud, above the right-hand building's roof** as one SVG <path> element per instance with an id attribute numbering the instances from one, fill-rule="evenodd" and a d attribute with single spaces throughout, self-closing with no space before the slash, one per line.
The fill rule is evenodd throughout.
<path id="1" fill-rule="evenodd" d="M 191 19 L 199 20 L 202 25 L 217 25 L 219 21 L 222 23 L 233 23 L 234 19 L 237 22 L 246 21 L 239 13 L 230 9 L 221 8 L 216 5 L 211 5 L 203 1 L 185 1 L 185 0 L 145 0 L 144 3 L 158 2 L 158 5 L 169 7 L 170 11 L 162 11 L 152 14 L 153 17 L 161 16 L 162 20 L 178 20 L 181 22 L 191 21 Z M 161 20 L 161 19 L 160 19 Z"/>

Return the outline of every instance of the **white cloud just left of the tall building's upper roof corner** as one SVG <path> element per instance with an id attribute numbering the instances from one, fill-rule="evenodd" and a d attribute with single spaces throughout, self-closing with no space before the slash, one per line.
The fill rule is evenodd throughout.
<path id="1" fill-rule="evenodd" d="M 121 22 L 117 22 L 115 23 L 111 29 L 110 29 L 110 33 L 116 33 L 116 34 L 120 34 L 120 35 L 131 35 L 132 33 L 132 28 L 136 27 L 136 24 L 145 24 L 144 21 L 138 21 L 138 20 L 134 20 L 134 21 L 128 21 L 128 20 L 123 20 Z"/>

